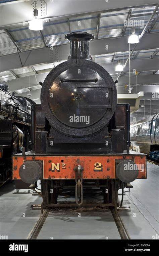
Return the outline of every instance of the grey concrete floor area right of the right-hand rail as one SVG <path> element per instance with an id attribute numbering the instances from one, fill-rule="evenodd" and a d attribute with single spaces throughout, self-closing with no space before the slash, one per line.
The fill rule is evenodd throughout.
<path id="1" fill-rule="evenodd" d="M 132 239 L 152 239 L 159 233 L 159 166 L 147 162 L 147 179 L 137 179 L 131 184 L 134 188 L 126 192 L 123 201 L 131 207 L 131 212 L 126 216 L 120 212 L 120 216 Z"/>

